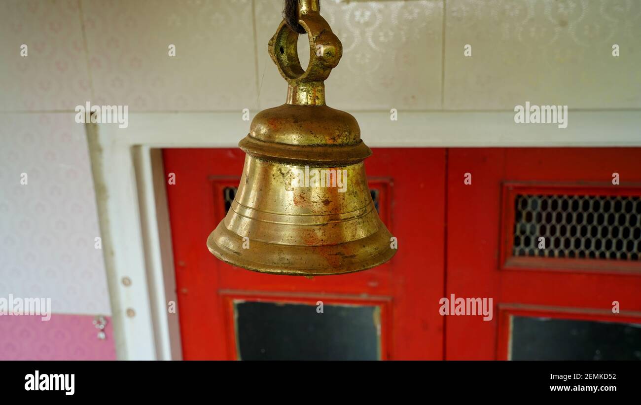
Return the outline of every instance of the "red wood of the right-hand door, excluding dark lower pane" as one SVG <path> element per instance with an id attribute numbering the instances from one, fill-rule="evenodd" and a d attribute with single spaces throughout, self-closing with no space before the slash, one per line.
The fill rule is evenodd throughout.
<path id="1" fill-rule="evenodd" d="M 626 248 L 615 242 L 610 251 L 601 249 L 602 254 L 622 255 L 619 259 L 590 258 L 590 254 L 600 254 L 593 244 L 602 244 L 607 238 L 616 240 L 613 233 L 620 232 L 613 229 L 617 227 L 614 222 L 597 225 L 604 219 L 595 213 L 594 201 L 603 204 L 606 196 L 612 196 L 612 201 L 628 196 L 624 204 L 637 201 L 641 195 L 641 149 L 450 149 L 448 162 L 447 296 L 492 297 L 494 318 L 447 317 L 446 359 L 509 358 L 513 315 L 641 324 L 641 262 L 623 259 L 634 251 L 638 255 L 638 244 Z M 463 181 L 466 173 L 471 174 L 469 185 Z M 612 184 L 613 173 L 619 174 L 620 185 Z M 519 195 L 535 204 L 554 200 L 565 204 L 547 219 L 540 212 L 535 213 L 537 219 L 526 213 L 530 218 L 519 223 L 521 229 L 537 220 L 558 221 L 553 236 L 547 238 L 547 251 L 536 247 L 519 254 L 513 251 L 517 241 L 515 210 L 520 210 L 515 205 L 520 200 L 515 198 Z M 576 215 L 569 208 L 575 200 L 576 212 L 582 210 L 579 201 L 587 204 L 580 220 L 568 217 Z M 629 209 L 619 206 L 619 210 Z M 590 210 L 595 211 L 592 217 L 588 217 Z M 626 214 L 619 214 L 617 218 L 624 218 L 624 223 L 633 216 L 625 219 Z M 589 235 L 593 231 L 594 235 Z M 574 238 L 558 237 L 572 232 L 576 233 Z M 563 242 L 553 241 L 557 239 Z M 531 240 L 528 243 L 532 245 Z M 620 313 L 613 313 L 613 301 L 620 303 Z"/>

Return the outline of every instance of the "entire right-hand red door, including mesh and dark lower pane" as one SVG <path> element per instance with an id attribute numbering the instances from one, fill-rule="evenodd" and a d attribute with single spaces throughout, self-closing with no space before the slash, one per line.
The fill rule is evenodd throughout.
<path id="1" fill-rule="evenodd" d="M 641 360 L 641 149 L 450 149 L 447 185 L 447 295 L 494 317 L 446 359 Z"/>

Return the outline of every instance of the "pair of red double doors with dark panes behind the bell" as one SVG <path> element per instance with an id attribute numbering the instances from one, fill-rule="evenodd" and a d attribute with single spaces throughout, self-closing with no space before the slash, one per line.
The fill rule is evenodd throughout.
<path id="1" fill-rule="evenodd" d="M 164 158 L 185 359 L 641 358 L 640 149 L 375 149 L 399 251 L 313 279 L 206 249 L 242 151 Z M 444 298 L 491 299 L 492 316 L 441 315 Z"/>

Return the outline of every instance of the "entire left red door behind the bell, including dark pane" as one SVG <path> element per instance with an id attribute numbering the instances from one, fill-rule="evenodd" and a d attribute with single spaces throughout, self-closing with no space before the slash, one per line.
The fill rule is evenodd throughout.
<path id="1" fill-rule="evenodd" d="M 374 150 L 372 197 L 407 254 L 313 279 L 238 269 L 207 250 L 240 179 L 240 149 L 168 149 L 164 160 L 176 175 L 167 194 L 185 359 L 443 358 L 444 149 Z"/>

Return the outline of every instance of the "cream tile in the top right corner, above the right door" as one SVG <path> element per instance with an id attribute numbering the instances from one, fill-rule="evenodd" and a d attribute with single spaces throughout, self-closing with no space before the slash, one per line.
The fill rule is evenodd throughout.
<path id="1" fill-rule="evenodd" d="M 447 110 L 641 107 L 641 1 L 448 0 L 445 14 Z"/>

